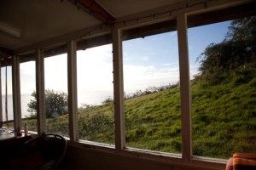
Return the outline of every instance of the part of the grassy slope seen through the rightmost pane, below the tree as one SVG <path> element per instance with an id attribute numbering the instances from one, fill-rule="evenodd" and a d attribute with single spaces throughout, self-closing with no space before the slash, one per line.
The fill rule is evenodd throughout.
<path id="1" fill-rule="evenodd" d="M 193 153 L 228 158 L 256 153 L 256 77 L 192 86 Z"/>

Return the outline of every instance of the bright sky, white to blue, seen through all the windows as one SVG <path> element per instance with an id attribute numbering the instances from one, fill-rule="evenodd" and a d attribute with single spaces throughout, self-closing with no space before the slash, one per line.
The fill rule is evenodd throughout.
<path id="1" fill-rule="evenodd" d="M 191 79 L 198 73 L 200 65 L 196 58 L 208 44 L 222 42 L 229 25 L 227 21 L 188 29 Z M 125 95 L 178 82 L 177 31 L 123 42 L 123 63 Z M 44 64 L 45 88 L 67 93 L 67 54 L 46 58 Z M 105 99 L 113 99 L 112 44 L 78 51 L 77 65 L 79 106 L 100 105 Z M 35 82 L 35 62 L 20 64 L 21 108 L 24 112 L 29 96 L 36 88 Z M 2 93 L 5 94 L 5 68 L 2 68 Z M 8 94 L 12 94 L 10 67 Z"/>

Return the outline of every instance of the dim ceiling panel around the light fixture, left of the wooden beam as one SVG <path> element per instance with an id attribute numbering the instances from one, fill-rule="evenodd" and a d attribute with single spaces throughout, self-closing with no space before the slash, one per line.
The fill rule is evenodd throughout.
<path id="1" fill-rule="evenodd" d="M 20 31 L 20 37 L 0 31 L 0 46 L 15 49 L 95 26 L 101 21 L 68 1 L 8 0 L 0 3 L 1 23 Z"/>

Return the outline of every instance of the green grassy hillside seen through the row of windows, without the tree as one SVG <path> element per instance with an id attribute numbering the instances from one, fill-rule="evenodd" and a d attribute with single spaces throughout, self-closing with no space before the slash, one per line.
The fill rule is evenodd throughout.
<path id="1" fill-rule="evenodd" d="M 255 72 L 218 83 L 192 81 L 193 155 L 256 153 Z M 35 120 L 27 121 L 30 129 L 35 127 Z M 67 115 L 47 119 L 47 127 L 68 136 Z M 114 144 L 112 102 L 79 109 L 79 139 Z M 125 140 L 128 147 L 181 153 L 179 86 L 125 99 Z"/>

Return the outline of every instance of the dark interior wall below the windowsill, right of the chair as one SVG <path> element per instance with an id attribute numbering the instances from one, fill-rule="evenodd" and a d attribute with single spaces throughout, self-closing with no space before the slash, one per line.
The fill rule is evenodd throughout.
<path id="1" fill-rule="evenodd" d="M 68 145 L 65 160 L 61 169 L 67 170 L 212 170 L 206 167 L 193 167 L 182 164 L 172 164 L 165 161 L 151 161 L 135 156 L 112 154 L 101 150 L 93 150 Z"/>

